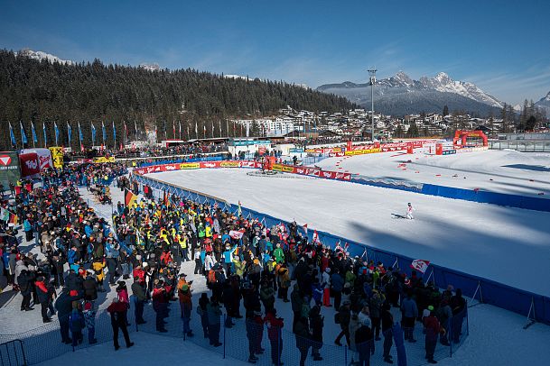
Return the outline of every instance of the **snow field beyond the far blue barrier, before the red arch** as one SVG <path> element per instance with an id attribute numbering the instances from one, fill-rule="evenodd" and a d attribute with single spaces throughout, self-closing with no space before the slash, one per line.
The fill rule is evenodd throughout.
<path id="1" fill-rule="evenodd" d="M 550 153 L 489 150 L 436 156 L 416 149 L 413 155 L 393 151 L 329 158 L 316 165 L 368 177 L 550 199 Z"/>

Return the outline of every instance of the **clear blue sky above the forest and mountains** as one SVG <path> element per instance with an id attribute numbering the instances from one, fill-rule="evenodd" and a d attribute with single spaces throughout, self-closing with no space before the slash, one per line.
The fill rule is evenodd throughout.
<path id="1" fill-rule="evenodd" d="M 550 2 L 7 1 L 0 47 L 318 87 L 443 71 L 516 104 L 550 91 Z"/>

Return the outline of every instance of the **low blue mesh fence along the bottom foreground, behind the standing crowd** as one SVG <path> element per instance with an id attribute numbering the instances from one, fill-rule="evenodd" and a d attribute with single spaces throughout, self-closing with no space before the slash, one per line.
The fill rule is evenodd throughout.
<path id="1" fill-rule="evenodd" d="M 286 305 L 290 307 L 290 305 Z M 234 325 L 230 328 L 225 327 L 226 316 L 220 316 L 220 325 L 218 328 L 219 332 L 219 343 L 218 347 L 215 347 L 210 344 L 210 339 L 204 336 L 203 326 L 200 316 L 196 312 L 196 306 L 193 307 L 191 311 L 191 320 L 190 327 L 194 335 L 192 337 L 187 336 L 183 333 L 183 323 L 181 318 L 181 310 L 178 302 L 170 303 L 169 316 L 165 318 L 166 333 L 158 333 L 155 329 L 155 316 L 153 307 L 151 304 L 147 304 L 144 307 L 144 319 L 146 324 L 137 325 L 135 323 L 135 306 L 132 304 L 130 309 L 127 312 L 128 319 L 128 332 L 130 334 L 130 339 L 132 339 L 132 334 L 135 332 L 144 332 L 148 334 L 157 334 L 163 336 L 170 336 L 173 338 L 181 338 L 182 342 L 191 342 L 208 349 L 211 352 L 219 354 L 220 358 L 232 358 L 241 361 L 248 361 L 249 357 L 249 346 L 250 343 L 254 343 L 259 348 L 258 350 L 264 349 L 264 352 L 257 354 L 258 365 L 273 365 L 276 358 L 276 354 L 280 354 L 280 364 L 287 365 L 297 365 L 299 364 L 301 358 L 301 351 L 298 348 L 300 346 L 308 346 L 308 357 L 305 361 L 306 365 L 334 365 L 334 366 L 348 366 L 352 365 L 352 361 L 359 360 L 359 354 L 357 352 L 357 346 L 352 342 L 351 347 L 348 345 L 337 346 L 332 343 L 332 339 L 325 339 L 324 343 L 312 343 L 310 339 L 303 339 L 296 337 L 295 334 L 291 332 L 293 321 L 292 319 L 284 319 L 284 327 L 280 330 L 280 342 L 276 342 L 275 339 L 270 339 L 267 326 L 261 325 L 261 327 L 256 326 L 254 333 L 247 334 L 247 323 L 244 318 L 235 319 L 233 318 Z M 396 313 L 394 316 L 397 316 L 398 311 L 394 310 Z M 468 336 L 468 313 L 467 309 L 464 309 L 464 312 L 460 316 L 454 316 L 449 326 L 446 328 L 446 334 L 449 336 L 449 341 L 451 342 L 450 346 L 445 346 L 441 344 L 439 339 L 435 346 L 435 352 L 433 354 L 433 359 L 443 360 L 445 358 L 451 357 L 453 352 L 456 352 L 457 348 L 461 346 L 466 337 Z M 327 322 L 331 322 L 331 319 L 325 319 L 325 326 Z M 213 327 L 210 327 L 210 330 Z M 454 332 L 454 329 L 457 331 Z M 406 333 L 407 329 L 404 329 Z M 386 337 L 392 338 L 392 346 L 389 354 L 392 356 L 394 361 L 397 361 L 400 357 L 403 360 L 403 357 L 406 357 L 406 364 L 410 366 L 419 366 L 426 363 L 425 355 L 425 335 L 423 332 L 423 325 L 421 323 L 416 323 L 415 328 L 412 330 L 414 334 L 416 343 L 409 343 L 404 341 L 403 334 L 383 334 L 381 333 L 380 341 L 372 341 L 374 345 L 373 356 L 371 357 L 371 365 L 382 365 L 385 364 L 383 361 L 383 344 Z M 74 337 L 74 334 L 70 334 L 71 337 Z M 52 321 L 48 325 L 43 325 L 39 328 L 33 329 L 20 334 L 0 334 L 0 342 L 3 343 L 0 345 L 0 356 L 3 357 L 0 359 L 2 365 L 32 365 L 40 363 L 42 361 L 51 360 L 53 358 L 59 357 L 67 352 L 74 352 L 79 349 L 88 348 L 95 345 L 96 343 L 89 343 L 89 330 L 84 328 L 82 330 L 83 341 L 77 345 L 61 343 L 61 332 L 60 332 L 60 322 L 58 319 Z M 124 339 L 122 334 L 119 334 L 118 342 L 122 347 L 125 346 Z M 455 338 L 453 338 L 455 337 Z M 111 319 L 107 311 L 98 312 L 96 316 L 96 325 L 95 325 L 95 338 L 98 343 L 110 343 L 113 341 L 113 331 L 111 327 Z M 20 340 L 23 340 L 21 342 Z M 253 341 L 253 342 L 249 342 Z M 342 343 L 345 343 L 345 338 L 342 338 Z M 21 348 L 15 348 L 15 352 L 11 352 L 10 359 L 5 359 L 5 354 L 8 354 L 2 350 L 4 344 L 19 344 Z M 319 349 L 319 353 L 322 356 L 322 363 L 313 361 L 312 359 L 312 345 L 315 345 Z M 398 351 L 397 344 L 404 344 L 405 353 Z M 139 343 L 135 344 L 135 347 L 138 348 Z M 13 347 L 10 345 L 10 347 Z M 274 352 L 274 353 L 272 353 Z M 275 354 L 275 356 L 274 356 Z M 275 358 L 274 358 L 275 357 Z M 8 360 L 11 360 L 12 363 L 9 363 Z M 23 362 L 22 362 L 23 361 Z M 75 359 L 78 362 L 78 359 Z M 277 364 L 277 363 L 275 363 Z M 401 362 L 397 364 L 403 364 Z"/>

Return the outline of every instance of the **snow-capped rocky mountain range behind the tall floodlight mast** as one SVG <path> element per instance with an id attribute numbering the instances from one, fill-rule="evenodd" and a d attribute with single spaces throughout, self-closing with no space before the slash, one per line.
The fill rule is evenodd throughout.
<path id="1" fill-rule="evenodd" d="M 317 90 L 346 96 L 360 105 L 370 104 L 368 83 L 355 84 L 346 81 L 322 85 Z M 375 104 L 386 114 L 441 112 L 443 105 L 448 105 L 450 110 L 487 114 L 491 109 L 502 107 L 502 102 L 496 97 L 470 82 L 452 80 L 444 72 L 434 78 L 422 77 L 414 80 L 403 71 L 397 72 L 393 77 L 377 80 Z"/>

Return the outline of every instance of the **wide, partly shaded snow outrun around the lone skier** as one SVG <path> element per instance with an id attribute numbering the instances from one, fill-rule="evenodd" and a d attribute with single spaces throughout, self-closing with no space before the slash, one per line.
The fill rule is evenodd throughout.
<path id="1" fill-rule="evenodd" d="M 550 296 L 550 213 L 320 178 L 197 169 L 152 178 L 373 247 Z M 416 208 L 415 220 L 404 214 Z"/>

